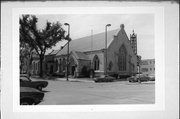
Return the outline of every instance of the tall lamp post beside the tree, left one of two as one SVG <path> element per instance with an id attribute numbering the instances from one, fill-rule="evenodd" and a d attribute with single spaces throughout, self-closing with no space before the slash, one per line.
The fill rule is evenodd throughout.
<path id="1" fill-rule="evenodd" d="M 69 41 L 70 41 L 70 25 L 68 23 L 64 23 L 65 26 L 68 26 L 68 35 L 67 35 L 67 40 L 68 40 L 68 44 L 67 44 L 67 67 L 66 67 L 66 80 L 69 81 L 68 79 L 68 68 L 69 68 Z"/>

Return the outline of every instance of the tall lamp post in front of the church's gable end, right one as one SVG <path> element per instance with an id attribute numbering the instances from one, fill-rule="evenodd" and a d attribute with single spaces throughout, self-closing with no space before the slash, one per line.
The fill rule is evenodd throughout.
<path id="1" fill-rule="evenodd" d="M 111 24 L 105 26 L 105 75 L 107 75 L 107 27 L 109 26 L 111 26 Z"/>

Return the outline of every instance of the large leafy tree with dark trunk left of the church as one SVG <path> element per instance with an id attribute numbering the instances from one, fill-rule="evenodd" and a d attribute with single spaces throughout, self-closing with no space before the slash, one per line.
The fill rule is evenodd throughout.
<path id="1" fill-rule="evenodd" d="M 36 51 L 40 60 L 40 77 L 42 77 L 46 50 L 63 40 L 65 31 L 59 22 L 50 23 L 48 21 L 45 28 L 38 29 L 37 21 L 38 18 L 35 15 L 22 15 L 20 17 L 20 45 L 28 44 L 29 51 Z"/>

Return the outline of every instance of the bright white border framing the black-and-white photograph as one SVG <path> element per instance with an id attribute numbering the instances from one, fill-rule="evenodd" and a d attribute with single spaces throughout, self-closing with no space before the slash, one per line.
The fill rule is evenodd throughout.
<path id="1" fill-rule="evenodd" d="M 99 112 L 165 110 L 165 39 L 163 7 L 53 7 L 13 8 L 13 112 Z M 19 16 L 21 14 L 154 14 L 155 20 L 155 104 L 118 105 L 19 105 Z"/>

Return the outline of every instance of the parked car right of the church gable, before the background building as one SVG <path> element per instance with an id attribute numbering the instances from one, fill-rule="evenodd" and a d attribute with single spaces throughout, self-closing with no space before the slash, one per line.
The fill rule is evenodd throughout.
<path id="1" fill-rule="evenodd" d="M 127 78 L 127 80 L 129 82 L 145 82 L 145 81 L 149 81 L 150 78 L 148 76 L 145 76 L 143 74 L 136 74 L 135 76 L 131 76 L 129 78 Z"/>

